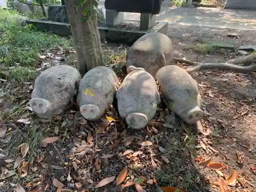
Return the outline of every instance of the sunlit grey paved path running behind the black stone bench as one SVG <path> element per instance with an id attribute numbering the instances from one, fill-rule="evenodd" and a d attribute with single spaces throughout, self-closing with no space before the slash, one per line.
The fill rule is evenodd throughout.
<path id="1" fill-rule="evenodd" d="M 104 9 L 104 1 L 100 1 Z M 139 20 L 139 13 L 124 13 L 127 20 Z M 214 27 L 224 29 L 255 30 L 256 10 L 231 10 L 223 8 L 165 7 L 157 15 L 157 21 L 173 25 Z"/>

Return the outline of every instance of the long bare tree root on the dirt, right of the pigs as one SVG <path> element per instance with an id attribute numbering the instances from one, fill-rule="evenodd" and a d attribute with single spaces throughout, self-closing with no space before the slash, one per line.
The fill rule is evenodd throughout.
<path id="1" fill-rule="evenodd" d="M 196 72 L 201 70 L 209 70 L 209 69 L 217 69 L 217 70 L 224 70 L 224 71 L 235 71 L 238 73 L 248 73 L 253 72 L 256 70 L 256 64 L 251 66 L 237 66 L 230 63 L 218 63 L 218 62 L 212 62 L 212 63 L 200 63 L 195 61 L 190 61 L 185 58 L 173 58 L 176 62 L 182 62 L 187 65 L 193 65 L 195 67 L 186 69 L 188 73 L 190 72 Z"/>

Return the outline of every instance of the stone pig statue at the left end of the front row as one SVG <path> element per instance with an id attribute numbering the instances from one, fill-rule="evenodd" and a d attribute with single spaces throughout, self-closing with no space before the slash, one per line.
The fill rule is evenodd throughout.
<path id="1" fill-rule="evenodd" d="M 30 107 L 44 119 L 62 113 L 76 95 L 80 78 L 80 73 L 72 66 L 59 65 L 45 70 L 35 79 Z"/>

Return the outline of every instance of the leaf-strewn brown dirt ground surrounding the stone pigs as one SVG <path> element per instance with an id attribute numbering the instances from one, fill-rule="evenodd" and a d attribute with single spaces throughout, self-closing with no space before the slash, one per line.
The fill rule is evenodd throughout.
<path id="1" fill-rule="evenodd" d="M 229 38 L 228 33 L 239 33 L 241 37 Z M 168 36 L 174 44 L 174 57 L 200 62 L 225 62 L 238 57 L 236 48 L 255 45 L 256 39 L 253 31 L 179 26 L 169 26 Z M 103 47 L 110 65 L 120 64 L 113 69 L 122 79 L 120 66 L 128 47 L 113 44 Z M 42 56 L 38 71 L 47 66 L 45 63 L 72 65 L 74 50 L 49 50 Z M 177 65 L 184 69 L 190 67 Z M 51 120 L 38 119 L 27 106 L 31 82 L 0 81 L 0 87 L 8 90 L 10 97 L 0 105 L 6 112 L 2 120 L 8 120 L 0 151 L 5 159 L 0 162 L 2 173 L 10 174 L 13 166 L 18 167 L 14 176 L 1 180 L 0 191 L 13 191 L 16 182 L 33 192 L 136 191 L 134 186 L 121 188 L 127 181 L 138 182 L 146 191 L 160 191 L 157 186 L 176 186 L 189 192 L 221 191 L 213 184 L 220 175 L 230 182 L 236 181 L 229 186 L 232 191 L 253 191 L 256 188 L 255 75 L 217 70 L 191 73 L 201 87 L 202 126 L 185 125 L 174 116 L 167 116 L 171 117 L 167 120 L 170 112 L 162 102 L 155 118 L 142 131 L 130 130 L 118 117 L 114 103 L 105 115 L 115 121 L 105 117 L 97 122 L 86 121 L 75 102 L 65 114 Z M 59 138 L 43 147 L 42 135 Z M 29 143 L 23 162 L 17 160 L 19 150 L 13 148 L 17 143 Z M 22 148 L 22 154 L 26 155 L 26 147 Z M 217 171 L 200 164 L 208 158 L 217 162 Z M 225 163 L 224 168 L 218 168 L 220 162 Z M 125 179 L 122 184 L 116 186 L 116 181 L 110 178 L 113 182 L 94 188 L 102 179 L 118 176 L 126 166 L 127 175 L 123 173 L 119 177 Z M 230 179 L 234 170 L 241 173 Z M 62 184 L 53 182 L 54 179 Z M 137 191 L 143 190 L 137 188 Z"/>

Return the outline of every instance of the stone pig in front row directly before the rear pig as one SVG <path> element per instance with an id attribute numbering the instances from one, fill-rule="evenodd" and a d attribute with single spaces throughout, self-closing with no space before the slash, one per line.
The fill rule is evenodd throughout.
<path id="1" fill-rule="evenodd" d="M 141 70 L 133 71 L 124 78 L 116 98 L 120 116 L 135 130 L 147 125 L 160 103 L 154 77 Z"/>

